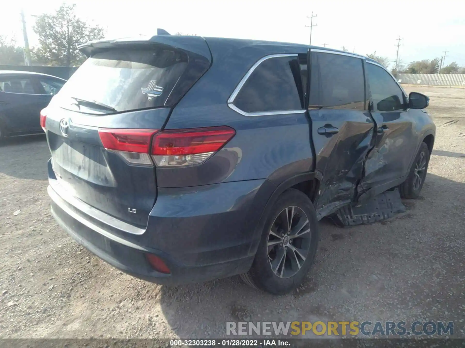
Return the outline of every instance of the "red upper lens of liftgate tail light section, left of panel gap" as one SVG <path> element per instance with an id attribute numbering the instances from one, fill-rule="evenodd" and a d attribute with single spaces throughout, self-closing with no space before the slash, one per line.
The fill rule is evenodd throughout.
<path id="1" fill-rule="evenodd" d="M 107 150 L 148 154 L 152 135 L 157 129 L 99 128 L 100 140 Z"/>

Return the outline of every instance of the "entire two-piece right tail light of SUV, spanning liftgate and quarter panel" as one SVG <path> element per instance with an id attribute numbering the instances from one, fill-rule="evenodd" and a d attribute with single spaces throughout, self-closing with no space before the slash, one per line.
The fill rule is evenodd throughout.
<path id="1" fill-rule="evenodd" d="M 236 134 L 231 127 L 195 129 L 107 129 L 100 128 L 100 140 L 109 151 L 129 164 L 184 167 L 206 161 Z M 152 139 L 153 137 L 153 139 Z M 152 148 L 150 143 L 152 141 Z"/>

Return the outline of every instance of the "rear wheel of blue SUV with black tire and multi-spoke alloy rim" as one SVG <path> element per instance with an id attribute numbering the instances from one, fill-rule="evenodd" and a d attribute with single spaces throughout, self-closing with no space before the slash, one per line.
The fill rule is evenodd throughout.
<path id="1" fill-rule="evenodd" d="M 286 227 L 288 221 L 291 228 Z M 318 219 L 312 201 L 301 191 L 288 189 L 273 205 L 252 267 L 241 278 L 256 289 L 275 295 L 287 294 L 302 283 L 312 267 L 318 241 Z"/>

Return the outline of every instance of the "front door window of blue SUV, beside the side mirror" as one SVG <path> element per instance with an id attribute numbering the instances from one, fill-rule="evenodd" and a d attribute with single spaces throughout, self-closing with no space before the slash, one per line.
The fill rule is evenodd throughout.
<path id="1" fill-rule="evenodd" d="M 404 110 L 404 93 L 392 76 L 375 64 L 366 64 L 368 83 L 372 92 L 373 111 Z"/>

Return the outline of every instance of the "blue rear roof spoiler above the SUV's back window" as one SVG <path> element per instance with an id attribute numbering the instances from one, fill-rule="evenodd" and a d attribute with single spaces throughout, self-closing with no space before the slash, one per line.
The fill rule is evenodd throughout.
<path id="1" fill-rule="evenodd" d="M 159 31 L 166 32 L 163 29 L 159 29 Z M 152 37 L 140 36 L 136 38 L 89 41 L 86 44 L 79 45 L 78 50 L 85 54 L 86 57 L 91 57 L 95 53 L 108 48 L 153 44 L 164 45 L 166 48 L 176 48 L 186 53 L 193 52 L 207 58 L 210 63 L 212 62 L 212 54 L 204 38 L 201 36 L 170 35 L 167 32 Z"/>

